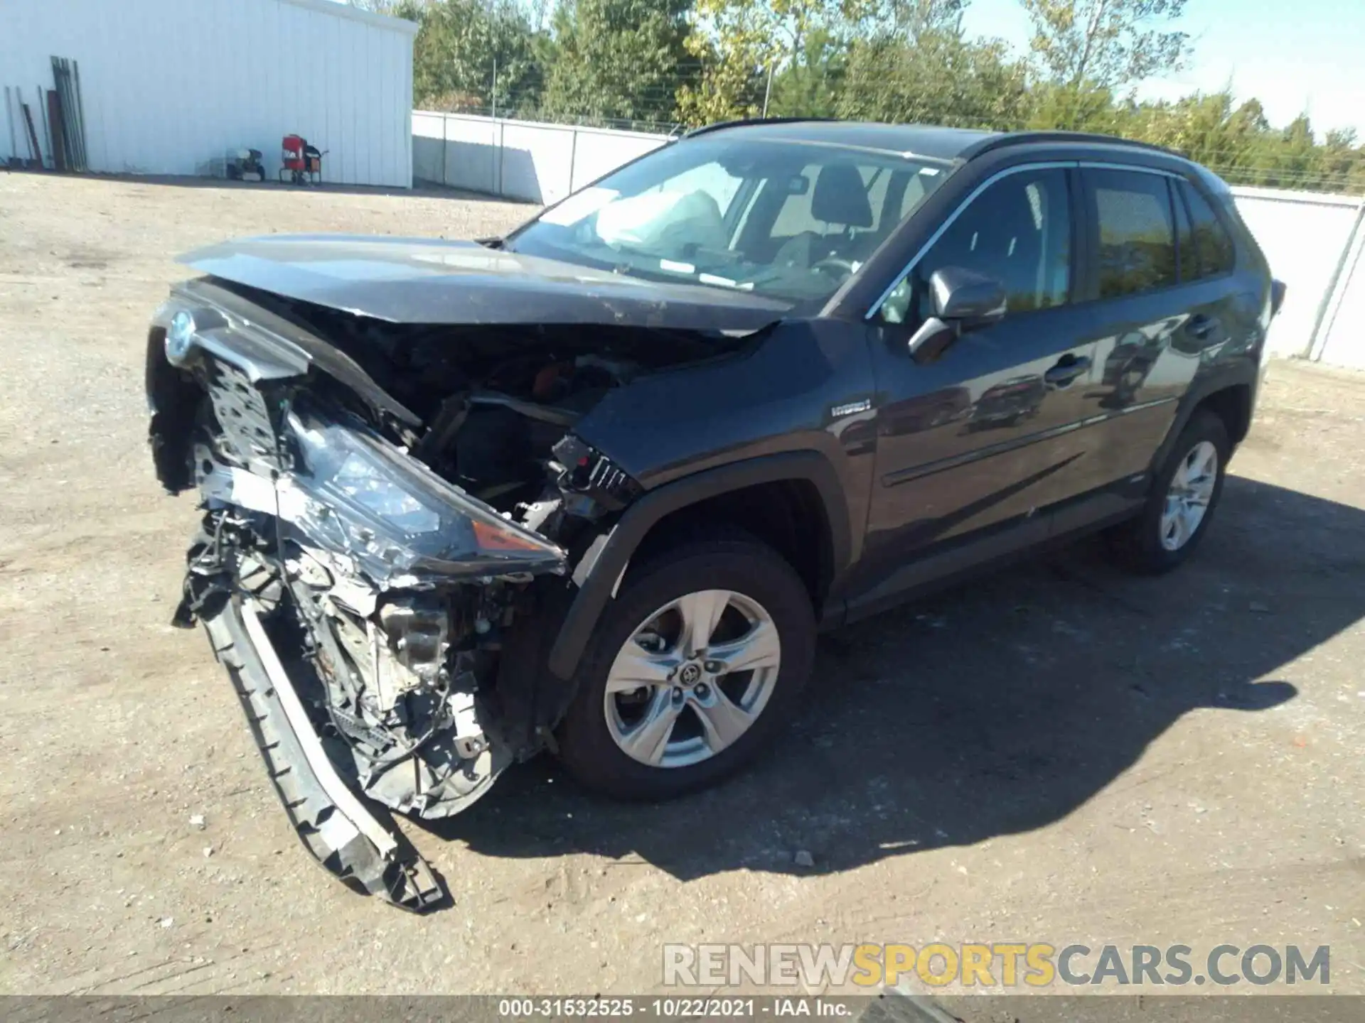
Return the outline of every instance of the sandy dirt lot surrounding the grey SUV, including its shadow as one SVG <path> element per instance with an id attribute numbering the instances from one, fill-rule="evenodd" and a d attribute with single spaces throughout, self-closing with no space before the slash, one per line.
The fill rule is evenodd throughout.
<path id="1" fill-rule="evenodd" d="M 1331 944 L 1365 993 L 1365 376 L 1287 363 L 1179 574 L 1084 544 L 831 637 L 794 732 L 681 803 L 516 768 L 404 825 L 448 911 L 318 870 L 167 623 L 194 509 L 152 477 L 146 321 L 225 236 L 526 213 L 0 175 L 0 990 L 644 992 L 666 941 L 1016 940 Z"/>

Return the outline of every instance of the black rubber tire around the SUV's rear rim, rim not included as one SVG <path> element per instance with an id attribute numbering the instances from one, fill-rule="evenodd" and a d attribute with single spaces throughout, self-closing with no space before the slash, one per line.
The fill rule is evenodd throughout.
<path id="1" fill-rule="evenodd" d="M 1218 456 L 1218 468 L 1213 473 L 1212 487 L 1208 491 L 1208 502 L 1203 516 L 1193 528 L 1188 528 L 1183 539 L 1170 536 L 1170 522 L 1166 518 L 1168 512 L 1167 498 L 1177 472 L 1201 450 L 1204 445 L 1211 445 Z M 1207 449 L 1204 449 L 1207 451 Z M 1227 427 L 1223 420 L 1208 411 L 1198 411 L 1181 431 L 1171 453 L 1152 481 L 1152 491 L 1147 498 L 1141 514 L 1122 525 L 1117 525 L 1106 533 L 1110 552 L 1115 561 L 1130 572 L 1156 576 L 1182 565 L 1194 548 L 1198 547 L 1208 525 L 1218 509 L 1219 498 L 1223 495 L 1223 479 L 1227 472 L 1227 460 L 1233 453 L 1233 445 L 1227 436 Z M 1166 540 L 1163 540 L 1166 537 Z M 1174 548 L 1167 540 L 1179 540 Z"/>

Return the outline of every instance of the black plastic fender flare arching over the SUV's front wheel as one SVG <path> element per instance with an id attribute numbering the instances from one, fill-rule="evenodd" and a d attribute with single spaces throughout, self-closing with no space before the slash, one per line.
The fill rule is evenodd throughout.
<path id="1" fill-rule="evenodd" d="M 587 576 L 580 580 L 579 592 L 550 648 L 551 674 L 565 681 L 573 677 L 588 637 L 612 599 L 621 573 L 625 572 L 646 533 L 661 518 L 721 494 L 784 480 L 805 480 L 815 484 L 830 524 L 830 552 L 834 576 L 838 577 L 848 567 L 850 558 L 849 512 L 838 473 L 830 460 L 819 451 L 781 451 L 684 476 L 648 491 L 621 514 L 606 535 L 597 559 Z"/>

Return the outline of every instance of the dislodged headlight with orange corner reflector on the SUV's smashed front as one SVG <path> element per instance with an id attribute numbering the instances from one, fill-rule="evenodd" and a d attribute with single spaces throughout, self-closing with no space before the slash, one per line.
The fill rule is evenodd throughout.
<path id="1" fill-rule="evenodd" d="M 564 552 L 364 430 L 288 416 L 303 465 L 280 517 L 373 580 L 562 572 Z"/>

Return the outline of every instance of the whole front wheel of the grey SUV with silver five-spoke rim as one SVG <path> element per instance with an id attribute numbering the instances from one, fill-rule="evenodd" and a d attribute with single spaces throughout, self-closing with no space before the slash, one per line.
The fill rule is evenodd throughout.
<path id="1" fill-rule="evenodd" d="M 725 599 L 718 618 L 714 632 L 718 638 L 708 649 L 715 656 L 730 651 L 738 657 L 738 644 L 748 641 L 756 656 L 759 644 L 753 638 L 762 636 L 767 656 L 763 663 L 770 663 L 775 634 L 778 655 L 773 667 L 710 674 L 721 662 L 687 656 L 687 642 L 680 636 L 687 621 L 682 610 L 715 607 L 721 600 L 713 595 L 722 592 L 729 592 L 730 597 Z M 674 602 L 681 603 L 655 617 Z M 704 617 L 692 615 L 696 621 Z M 646 634 L 650 642 L 646 648 L 635 640 L 651 622 L 657 629 Z M 728 637 L 740 638 L 736 645 L 726 645 Z M 628 659 L 622 663 L 631 668 L 642 667 L 613 675 L 618 656 Z M 584 787 L 621 799 L 667 799 L 706 788 L 747 764 L 786 723 L 800 702 L 814 657 L 811 597 L 792 566 L 775 551 L 747 535 L 684 542 L 632 566 L 617 597 L 603 611 L 575 674 L 573 702 L 558 728 L 560 758 Z M 610 679 L 620 686 L 622 675 L 633 678 L 643 672 L 655 678 L 659 664 L 674 664 L 672 682 L 613 692 L 609 700 Z M 703 664 L 710 667 L 703 668 Z M 693 671 L 700 679 L 691 674 Z M 751 698 L 752 694 L 756 696 Z M 644 732 L 637 728 L 655 708 L 663 707 L 665 696 L 681 709 L 673 711 L 672 726 L 662 726 L 667 731 L 662 732 L 663 742 L 654 746 L 654 762 L 628 754 L 625 745 L 636 747 L 637 753 L 644 749 L 639 738 Z M 710 698 L 710 709 L 702 705 L 703 696 Z M 721 704 L 722 698 L 728 704 Z M 744 713 L 748 724 L 726 745 L 714 723 L 708 730 L 710 715 L 714 711 L 717 720 L 726 722 L 729 732 L 736 719 L 728 712 L 744 705 L 756 709 L 752 716 Z M 635 717 L 636 713 L 640 716 Z M 663 716 L 655 715 L 658 720 Z M 695 735 L 689 738 L 689 732 Z M 693 754 L 700 758 L 691 761 Z"/>

